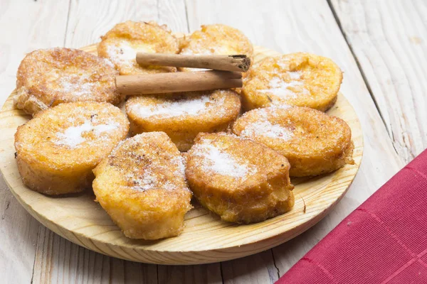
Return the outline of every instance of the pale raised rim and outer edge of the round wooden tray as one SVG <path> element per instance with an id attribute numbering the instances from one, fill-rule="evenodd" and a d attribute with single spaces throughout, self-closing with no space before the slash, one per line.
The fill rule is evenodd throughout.
<path id="1" fill-rule="evenodd" d="M 85 46 L 83 48 L 80 48 L 80 50 L 85 50 L 90 52 L 90 50 L 93 52 L 94 48 L 96 48 L 97 43 L 93 44 L 93 45 L 88 45 Z M 254 51 L 255 51 L 255 56 L 256 53 L 270 53 L 270 55 L 266 55 L 266 56 L 274 56 L 274 55 L 280 55 L 280 53 L 276 53 L 273 50 L 269 50 L 267 48 L 263 48 L 263 47 L 259 47 L 254 45 Z M 4 129 L 4 119 L 7 118 L 8 116 L 3 116 L 2 114 L 4 114 L 5 109 L 9 106 L 10 104 L 12 104 L 11 109 L 7 110 L 16 110 L 16 108 L 13 107 L 13 102 L 11 102 L 13 100 L 13 96 L 14 93 L 16 92 L 16 89 L 11 92 L 11 94 L 9 95 L 9 97 L 6 99 L 6 102 L 3 104 L 3 106 L 1 107 L 0 110 L 0 129 Z M 229 246 L 223 246 L 223 247 L 218 247 L 217 249 L 196 249 L 196 250 L 185 250 L 185 251 L 170 251 L 167 249 L 146 249 L 144 247 L 140 247 L 139 250 L 141 251 L 147 251 L 147 253 L 204 253 L 204 252 L 212 252 L 214 251 L 215 253 L 221 253 L 221 252 L 231 252 L 231 251 L 235 251 L 238 254 L 238 256 L 223 256 L 223 257 L 216 257 L 215 259 L 210 259 L 213 258 L 214 256 L 209 256 L 209 259 L 207 258 L 207 256 L 205 256 L 204 261 L 178 261 L 178 262 L 174 262 L 174 261 L 153 261 L 153 260 L 148 260 L 145 259 L 144 256 L 142 256 L 141 258 L 134 258 L 134 257 L 127 257 L 127 256 L 120 256 L 117 255 L 117 253 L 115 254 L 111 254 L 111 253 L 106 253 L 105 251 L 103 251 L 102 249 L 99 249 L 98 246 L 102 246 L 102 245 L 106 245 L 106 246 L 112 246 L 112 247 L 117 247 L 117 248 L 122 248 L 125 247 L 127 249 L 131 249 L 135 251 L 135 245 L 132 245 L 130 243 L 125 243 L 125 244 L 113 244 L 111 242 L 108 241 L 102 241 L 100 239 L 93 239 L 93 236 L 85 236 L 85 234 L 83 234 L 83 232 L 81 231 L 73 231 L 70 230 L 68 228 L 66 228 L 64 226 L 64 224 L 58 224 L 57 222 L 54 222 L 53 220 L 51 220 L 48 216 L 46 216 L 46 214 L 43 214 L 41 212 L 38 212 L 36 209 L 33 209 L 33 207 L 31 206 L 31 204 L 28 204 L 28 201 L 24 200 L 24 198 L 19 194 L 19 192 L 16 192 L 16 188 L 15 187 L 19 187 L 20 185 L 12 185 L 11 181 L 10 181 L 10 177 L 9 174 L 6 172 L 6 168 L 4 168 L 3 164 L 4 162 L 2 161 L 0 163 L 0 165 L 2 165 L 0 167 L 0 172 L 2 173 L 2 175 L 4 176 L 4 181 L 6 183 L 6 185 L 9 187 L 9 190 L 11 190 L 12 194 L 14 195 L 14 197 L 16 197 L 16 199 L 19 201 L 19 203 L 26 209 L 26 211 L 31 214 L 31 216 L 33 216 L 34 218 L 36 218 L 38 220 L 38 222 L 41 222 L 41 224 L 43 224 L 43 226 L 48 227 L 48 229 L 51 229 L 52 231 L 54 231 L 56 234 L 59 234 L 60 236 L 64 237 L 65 239 L 68 239 L 69 241 L 72 241 L 75 244 L 78 244 L 79 246 L 83 246 L 87 249 L 90 249 L 92 251 L 97 251 L 98 253 L 102 253 L 105 254 L 107 256 L 113 256 L 113 257 L 118 257 L 118 258 L 122 258 L 122 259 L 127 259 L 130 261 L 139 261 L 139 262 L 147 262 L 147 263 L 157 263 L 157 264 L 173 264 L 173 265 L 181 265 L 181 264 L 201 264 L 201 263 L 215 263 L 218 261 L 226 261 L 226 260 L 230 260 L 233 258 L 239 258 L 239 257 L 243 257 L 243 256 L 248 256 L 251 255 L 253 253 L 258 253 L 260 251 L 264 251 L 266 249 L 270 249 L 271 247 L 277 246 L 279 244 L 283 244 L 285 241 L 288 241 L 289 239 L 293 239 L 295 236 L 298 236 L 299 234 L 302 234 L 302 232 L 306 231 L 307 229 L 310 229 L 312 226 L 314 226 L 315 224 L 317 224 L 318 222 L 320 222 L 321 219 L 323 219 L 331 210 L 332 208 L 340 201 L 342 200 L 342 197 L 344 197 L 344 195 L 347 193 L 347 191 L 349 190 L 350 185 L 352 185 L 352 182 L 354 180 L 354 178 L 356 177 L 359 168 L 360 168 L 360 164 L 362 162 L 362 155 L 363 155 L 363 150 L 364 150 L 364 141 L 363 141 L 363 132 L 362 132 L 362 126 L 360 124 L 359 121 L 359 117 L 357 116 L 356 111 L 354 111 L 354 108 L 352 107 L 352 104 L 350 104 L 347 99 L 345 99 L 345 97 L 342 94 L 339 94 L 339 99 L 344 99 L 344 101 L 348 104 L 348 106 L 350 107 L 352 113 L 354 114 L 354 119 L 355 119 L 355 126 L 357 127 L 357 130 L 359 131 L 359 142 L 360 145 L 355 145 L 355 150 L 357 148 L 357 150 L 359 151 L 359 155 L 357 155 L 357 157 L 354 157 L 354 161 L 355 161 L 355 165 L 353 165 L 353 167 L 355 166 L 356 168 L 354 169 L 354 174 L 352 175 L 350 180 L 346 181 L 346 185 L 345 185 L 345 189 L 342 190 L 341 194 L 332 202 L 330 202 L 327 207 L 323 208 L 322 211 L 317 212 L 317 214 L 315 214 L 314 216 L 312 216 L 310 219 L 307 219 L 304 222 L 301 222 L 300 224 L 297 224 L 296 226 L 293 226 L 292 229 L 288 229 L 286 231 L 281 231 L 278 234 L 271 234 L 268 237 L 263 237 L 261 239 L 255 239 L 252 241 L 248 241 L 248 242 L 243 242 L 240 245 L 236 245 L 236 244 L 230 244 Z M 17 110 L 18 111 L 18 110 Z M 23 114 L 22 111 L 20 111 L 21 114 Z M 25 115 L 25 114 L 24 114 Z M 28 115 L 25 115 L 28 117 Z M 16 124 L 14 124 L 14 127 L 16 126 Z M 16 126 L 17 127 L 17 126 Z M 15 129 L 16 129 L 15 127 Z M 352 129 L 352 134 L 354 133 L 354 129 Z M 353 138 L 353 136 L 352 136 Z M 353 139 L 354 140 L 354 139 Z M 7 141 L 7 138 L 4 139 L 3 141 Z M 3 153 L 8 152 L 6 149 L 4 149 L 2 143 L 4 143 L 3 141 L 1 141 L 1 145 L 0 145 L 0 151 L 2 153 L 1 156 L 3 156 Z M 12 143 L 13 144 L 13 143 Z M 346 167 L 348 167 L 349 165 L 346 165 Z M 16 163 L 15 163 L 15 167 L 16 167 Z M 337 172 L 334 172 L 337 173 Z M 328 174 L 330 176 L 333 176 L 334 174 Z M 19 179 L 20 176 L 18 177 Z M 330 183 L 328 183 L 327 185 L 330 185 Z M 21 185 L 22 187 L 25 187 L 25 185 Z M 31 191 L 27 188 L 28 191 Z M 38 193 L 37 193 L 38 194 Z M 282 215 L 283 216 L 283 215 Z M 276 217 L 277 218 L 277 217 Z M 273 218 L 274 219 L 274 218 Z M 263 222 L 261 222 L 263 223 Z M 260 223 L 258 223 L 260 224 Z M 307 226 L 308 224 L 308 226 Z M 245 225 L 243 225 L 245 226 Z M 304 227 L 304 228 L 302 228 Z M 117 228 L 118 229 L 118 228 Z M 273 230 L 273 229 L 272 229 Z M 65 231 L 65 232 L 64 232 Z M 69 234 L 67 234 L 67 232 L 69 232 L 70 234 L 73 234 L 75 236 L 75 239 L 73 239 L 73 237 L 70 237 Z M 280 236 L 283 236 L 284 234 L 288 234 L 289 232 L 292 232 L 291 236 L 288 236 L 286 238 L 280 238 Z M 82 240 L 84 239 L 84 241 Z M 174 239 L 174 238 L 171 238 Z M 272 239 L 276 239 L 274 241 L 274 244 L 271 244 L 271 240 Z M 86 243 L 92 243 L 92 245 L 88 245 Z M 265 244 L 267 243 L 267 244 Z M 265 246 L 263 246 L 265 244 Z M 97 246 L 98 245 L 98 246 Z M 250 253 L 247 253 L 247 251 L 245 251 L 245 248 L 247 248 L 248 246 L 253 246 L 253 248 L 251 249 Z M 130 256 L 129 253 L 126 253 L 127 255 Z M 138 253 L 137 253 L 138 254 Z M 141 256 L 141 255 L 139 255 Z"/>

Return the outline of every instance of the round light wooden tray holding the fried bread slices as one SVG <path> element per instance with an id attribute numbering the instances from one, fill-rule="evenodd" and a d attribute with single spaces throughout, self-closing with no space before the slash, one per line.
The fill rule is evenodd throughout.
<path id="1" fill-rule="evenodd" d="M 96 45 L 82 50 L 96 54 Z M 278 55 L 255 47 L 255 61 Z M 94 202 L 93 193 L 69 197 L 48 197 L 29 190 L 21 181 L 14 159 L 16 127 L 31 116 L 15 109 L 13 92 L 0 111 L 1 173 L 22 206 L 41 224 L 69 241 L 108 256 L 158 264 L 199 264 L 226 261 L 258 253 L 294 238 L 320 221 L 347 191 L 359 169 L 363 141 L 359 120 L 342 94 L 328 114 L 347 121 L 354 141 L 354 165 L 346 165 L 329 175 L 293 179 L 295 207 L 265 222 L 238 225 L 223 222 L 206 209 L 196 206 L 186 214 L 180 236 L 159 240 L 127 239 L 107 213 Z"/>

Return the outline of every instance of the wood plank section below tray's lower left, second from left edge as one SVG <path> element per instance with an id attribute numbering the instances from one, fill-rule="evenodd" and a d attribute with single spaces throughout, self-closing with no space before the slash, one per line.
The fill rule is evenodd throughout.
<path id="1" fill-rule="evenodd" d="M 157 283 L 155 265 L 95 253 L 44 226 L 37 248 L 33 283 Z"/>

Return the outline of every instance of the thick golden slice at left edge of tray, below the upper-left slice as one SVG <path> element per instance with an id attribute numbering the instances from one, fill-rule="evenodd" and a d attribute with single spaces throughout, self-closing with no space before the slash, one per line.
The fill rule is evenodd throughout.
<path id="1" fill-rule="evenodd" d="M 108 103 L 59 104 L 38 112 L 15 133 L 23 183 L 46 195 L 90 187 L 92 170 L 127 135 L 129 121 Z"/>

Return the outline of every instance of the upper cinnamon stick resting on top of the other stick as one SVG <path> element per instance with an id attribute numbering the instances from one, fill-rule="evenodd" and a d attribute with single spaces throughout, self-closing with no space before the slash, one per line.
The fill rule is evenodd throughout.
<path id="1" fill-rule="evenodd" d="M 139 65 L 204 68 L 246 72 L 251 59 L 246 55 L 179 55 L 164 53 L 137 53 Z"/>

